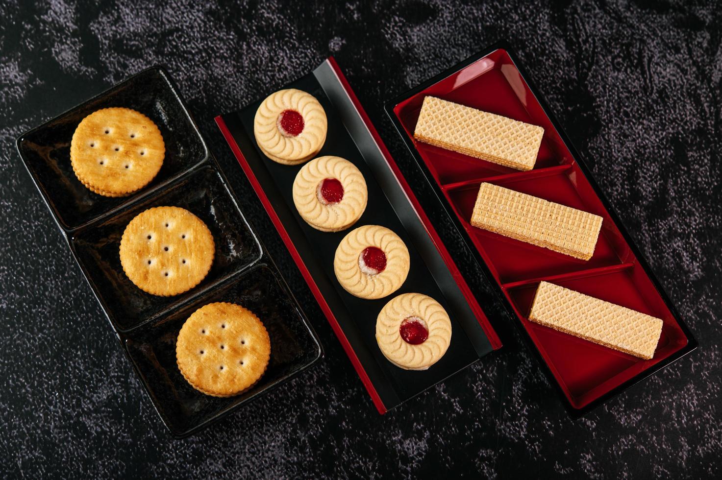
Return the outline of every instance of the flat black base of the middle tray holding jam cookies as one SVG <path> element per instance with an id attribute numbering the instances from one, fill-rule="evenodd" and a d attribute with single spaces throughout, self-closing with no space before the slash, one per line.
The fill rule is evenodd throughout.
<path id="1" fill-rule="evenodd" d="M 368 200 L 362 217 L 355 225 L 342 232 L 321 232 L 310 227 L 298 214 L 292 198 L 294 179 L 303 165 L 281 165 L 269 160 L 260 149 L 253 136 L 253 118 L 261 100 L 253 102 L 238 113 L 223 115 L 223 120 L 238 146 L 245 161 L 251 165 L 256 179 L 264 189 L 274 210 L 284 224 L 296 250 L 313 275 L 316 285 L 323 294 L 334 317 L 344 331 L 354 352 L 362 363 L 366 374 L 386 409 L 398 406 L 436 383 L 464 367 L 477 362 L 479 357 L 492 351 L 492 347 L 481 326 L 474 318 L 475 342 L 470 341 L 469 333 L 459 323 L 462 315 L 471 315 L 469 305 L 452 304 L 448 301 L 430 272 L 425 259 L 414 245 L 414 238 L 406 231 L 399 218 L 399 212 L 388 201 L 386 193 L 370 170 L 369 165 L 357 148 L 355 138 L 347 131 L 347 126 L 339 118 L 336 106 L 331 102 L 313 74 L 298 79 L 283 88 L 297 88 L 311 95 L 321 103 L 328 118 L 326 143 L 317 157 L 335 155 L 343 157 L 356 165 L 364 175 L 367 184 Z M 414 221 L 418 222 L 417 217 Z M 346 292 L 336 280 L 334 274 L 334 255 L 341 240 L 353 229 L 367 224 L 378 224 L 396 232 L 409 249 L 410 269 L 404 284 L 393 294 L 378 300 L 365 300 Z M 451 344 L 446 354 L 429 370 L 416 372 L 404 370 L 383 356 L 375 339 L 375 322 L 381 308 L 393 297 L 408 292 L 420 292 L 440 302 L 450 314 L 452 323 Z"/>

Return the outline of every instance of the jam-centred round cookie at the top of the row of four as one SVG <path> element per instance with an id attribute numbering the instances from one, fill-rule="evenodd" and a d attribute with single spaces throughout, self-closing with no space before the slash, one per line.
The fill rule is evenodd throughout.
<path id="1" fill-rule="evenodd" d="M 326 141 L 327 129 L 326 112 L 316 97 L 295 88 L 266 97 L 253 120 L 258 147 L 283 165 L 315 157 Z"/>

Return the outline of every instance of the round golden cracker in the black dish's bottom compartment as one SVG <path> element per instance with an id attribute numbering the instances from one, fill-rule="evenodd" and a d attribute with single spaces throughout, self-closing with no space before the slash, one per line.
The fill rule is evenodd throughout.
<path id="1" fill-rule="evenodd" d="M 271 339 L 263 322 L 235 303 L 209 303 L 183 323 L 175 343 L 178 370 L 206 395 L 230 397 L 266 372 Z"/>

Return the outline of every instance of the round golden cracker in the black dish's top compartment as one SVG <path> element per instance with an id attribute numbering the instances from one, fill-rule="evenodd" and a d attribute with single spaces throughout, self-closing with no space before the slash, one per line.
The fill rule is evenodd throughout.
<path id="1" fill-rule="evenodd" d="M 165 143 L 153 121 L 130 108 L 103 108 L 83 118 L 70 142 L 75 176 L 103 196 L 147 186 L 163 165 Z"/>

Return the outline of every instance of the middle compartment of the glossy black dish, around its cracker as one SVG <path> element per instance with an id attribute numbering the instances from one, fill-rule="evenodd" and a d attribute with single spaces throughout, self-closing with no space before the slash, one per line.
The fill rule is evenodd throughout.
<path id="1" fill-rule="evenodd" d="M 206 278 L 188 292 L 159 297 L 136 287 L 121 266 L 123 230 L 142 211 L 154 206 L 180 206 L 211 230 L 216 251 Z M 245 222 L 219 173 L 210 166 L 194 170 L 157 194 L 108 219 L 83 227 L 71 236 L 71 249 L 95 296 L 117 331 L 128 331 L 168 308 L 214 287 L 261 258 L 261 245 Z"/>

